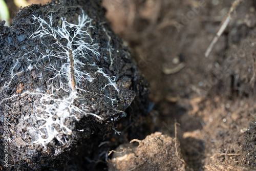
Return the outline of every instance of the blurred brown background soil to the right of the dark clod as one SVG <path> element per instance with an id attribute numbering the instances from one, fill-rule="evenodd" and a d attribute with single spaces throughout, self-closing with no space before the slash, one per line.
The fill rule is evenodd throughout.
<path id="1" fill-rule="evenodd" d="M 256 168 L 255 1 L 241 3 L 204 56 L 232 2 L 102 0 L 112 29 L 151 83 L 154 131 L 174 137 L 175 119 L 180 124 L 187 170 Z M 19 8 L 7 4 L 14 16 Z"/>

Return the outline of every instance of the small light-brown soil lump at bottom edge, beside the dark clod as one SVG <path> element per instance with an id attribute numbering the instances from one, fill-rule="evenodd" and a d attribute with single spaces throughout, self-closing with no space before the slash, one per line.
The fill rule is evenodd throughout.
<path id="1" fill-rule="evenodd" d="M 109 161 L 109 170 L 185 170 L 179 142 L 167 135 L 156 132 L 142 141 L 122 144 L 117 147 Z M 178 155 L 176 153 L 176 146 Z"/>

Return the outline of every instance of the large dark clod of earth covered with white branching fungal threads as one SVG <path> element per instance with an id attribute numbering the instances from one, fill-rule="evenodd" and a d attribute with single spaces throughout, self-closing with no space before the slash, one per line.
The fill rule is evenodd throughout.
<path id="1" fill-rule="evenodd" d="M 6 169 L 66 163 L 82 140 L 97 147 L 120 118 L 146 113 L 147 83 L 102 11 L 98 1 L 53 1 L 23 8 L 12 27 L 0 25 Z"/>

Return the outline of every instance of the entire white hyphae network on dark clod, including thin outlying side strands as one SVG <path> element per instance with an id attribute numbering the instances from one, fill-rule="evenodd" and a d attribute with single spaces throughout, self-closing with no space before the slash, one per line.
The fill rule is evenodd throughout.
<path id="1" fill-rule="evenodd" d="M 89 29 L 94 29 L 92 19 L 82 12 L 78 16 L 78 24 L 67 22 L 66 18 L 61 18 L 61 26 L 55 26 L 52 15 L 47 17 L 47 20 L 33 16 L 34 23 L 38 24 L 38 29 L 30 36 L 32 39 L 40 39 L 40 45 L 34 47 L 33 50 L 27 50 L 24 58 L 30 63 L 27 67 L 27 72 L 32 70 L 46 70 L 49 73 L 54 73 L 48 81 L 48 90 L 51 94 L 40 92 L 26 92 L 29 95 L 37 96 L 39 100 L 34 102 L 37 121 L 41 125 L 29 126 L 30 132 L 36 133 L 34 143 L 41 144 L 46 148 L 46 144 L 53 138 L 56 138 L 61 143 L 66 143 L 65 136 L 72 134 L 72 127 L 67 126 L 67 119 L 74 118 L 80 120 L 83 115 L 93 115 L 98 119 L 100 116 L 90 113 L 89 107 L 81 104 L 79 107 L 75 105 L 75 101 L 79 97 L 78 91 L 91 93 L 84 89 L 84 81 L 93 83 L 96 79 L 91 72 L 87 72 L 87 67 L 95 68 L 95 73 L 102 75 L 108 84 L 102 87 L 102 90 L 107 86 L 112 86 L 115 91 L 119 92 L 116 87 L 115 77 L 108 76 L 104 73 L 103 68 L 99 68 L 95 62 L 90 62 L 94 58 L 99 60 L 101 56 L 98 52 L 99 45 L 94 43 L 94 39 L 89 34 Z M 55 26 L 55 27 L 54 27 Z M 48 45 L 53 42 L 52 45 Z M 44 51 L 40 50 L 44 47 Z M 39 55 L 38 55 L 39 54 Z M 32 59 L 31 56 L 34 56 Z M 18 60 L 17 60 L 18 62 Z M 112 61 L 113 62 L 113 61 Z M 12 68 L 12 78 L 13 75 Z M 10 84 L 10 83 L 9 83 Z M 8 85 L 8 84 L 7 84 Z M 57 92 L 65 91 L 61 96 L 56 95 Z M 103 93 L 96 95 L 104 96 Z M 112 104 L 117 101 L 111 97 Z M 58 127 L 58 129 L 56 129 Z M 61 130 L 61 131 L 60 131 Z"/>

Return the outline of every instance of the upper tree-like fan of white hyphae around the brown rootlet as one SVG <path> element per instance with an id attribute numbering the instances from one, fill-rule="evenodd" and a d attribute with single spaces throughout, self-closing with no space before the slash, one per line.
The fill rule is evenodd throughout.
<path id="1" fill-rule="evenodd" d="M 90 73 L 81 71 L 80 68 L 87 64 L 80 59 L 87 59 L 92 57 L 92 55 L 96 58 L 100 56 L 98 52 L 99 45 L 94 44 L 91 35 L 88 33 L 90 28 L 93 29 L 93 26 L 91 26 L 92 19 L 83 13 L 79 15 L 78 24 L 75 25 L 68 23 L 66 18 L 61 18 L 62 25 L 57 28 L 53 27 L 54 22 L 51 15 L 48 16 L 49 23 L 41 17 L 37 18 L 34 16 L 33 19 L 37 20 L 39 28 L 31 37 L 52 38 L 55 40 L 52 47 L 57 47 L 57 50 L 54 48 L 47 49 L 48 53 L 46 55 L 42 54 L 38 58 L 38 63 L 39 60 L 49 60 L 50 65 L 46 69 L 56 72 L 56 75 L 51 80 L 59 80 L 59 87 L 57 89 L 63 89 L 76 94 L 76 89 L 82 80 L 92 82 L 94 79 Z M 53 60 L 54 63 L 51 58 L 56 58 Z M 60 68 L 57 68 L 56 63 L 60 61 L 62 65 Z M 65 87 L 65 83 L 62 81 L 63 78 L 68 80 L 70 89 Z"/>

